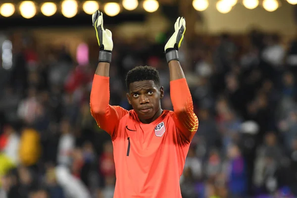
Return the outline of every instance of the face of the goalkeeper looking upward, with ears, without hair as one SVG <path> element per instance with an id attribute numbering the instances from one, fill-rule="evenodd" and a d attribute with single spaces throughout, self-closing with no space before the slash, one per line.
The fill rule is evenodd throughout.
<path id="1" fill-rule="evenodd" d="M 140 119 L 150 119 L 161 108 L 163 87 L 157 87 L 152 80 L 138 81 L 129 86 L 127 98 Z"/>

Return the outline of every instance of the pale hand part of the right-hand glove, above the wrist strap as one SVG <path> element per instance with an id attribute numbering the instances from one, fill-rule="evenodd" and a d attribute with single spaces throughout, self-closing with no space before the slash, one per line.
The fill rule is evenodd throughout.
<path id="1" fill-rule="evenodd" d="M 173 49 L 178 50 L 184 40 L 184 34 L 186 32 L 186 20 L 184 17 L 178 17 L 174 24 L 175 32 L 170 37 L 165 45 L 165 52 L 171 51 Z"/>

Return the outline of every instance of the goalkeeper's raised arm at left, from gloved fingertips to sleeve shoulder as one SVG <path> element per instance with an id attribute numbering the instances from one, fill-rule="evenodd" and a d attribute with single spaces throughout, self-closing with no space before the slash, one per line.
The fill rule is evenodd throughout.
<path id="1" fill-rule="evenodd" d="M 93 26 L 96 30 L 100 52 L 99 64 L 94 75 L 91 90 L 91 113 L 98 126 L 106 131 L 112 140 L 114 140 L 117 135 L 118 123 L 128 111 L 120 106 L 109 105 L 109 65 L 113 43 L 111 32 L 103 28 L 102 13 L 99 11 L 93 14 Z"/>

